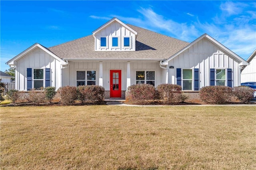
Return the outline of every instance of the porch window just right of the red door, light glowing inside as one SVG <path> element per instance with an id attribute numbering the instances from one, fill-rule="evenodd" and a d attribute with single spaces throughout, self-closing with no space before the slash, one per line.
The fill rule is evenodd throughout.
<path id="1" fill-rule="evenodd" d="M 136 71 L 136 84 L 143 83 L 155 86 L 155 71 Z"/>

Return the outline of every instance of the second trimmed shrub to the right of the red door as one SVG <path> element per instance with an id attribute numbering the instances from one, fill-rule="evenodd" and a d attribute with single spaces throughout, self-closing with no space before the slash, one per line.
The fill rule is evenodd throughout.
<path id="1" fill-rule="evenodd" d="M 180 85 L 160 84 L 156 87 L 160 99 L 166 104 L 173 104 L 181 101 L 182 88 Z"/>

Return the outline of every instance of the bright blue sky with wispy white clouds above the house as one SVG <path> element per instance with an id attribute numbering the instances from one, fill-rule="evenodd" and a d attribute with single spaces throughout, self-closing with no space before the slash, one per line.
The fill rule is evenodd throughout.
<path id="1" fill-rule="evenodd" d="M 192 42 L 209 34 L 240 57 L 256 49 L 256 1 L 0 1 L 1 71 L 34 43 L 88 36 L 113 17 Z"/>

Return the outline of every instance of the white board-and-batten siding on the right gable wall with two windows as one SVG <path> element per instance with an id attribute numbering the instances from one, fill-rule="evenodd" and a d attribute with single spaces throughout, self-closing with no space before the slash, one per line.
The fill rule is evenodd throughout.
<path id="1" fill-rule="evenodd" d="M 176 68 L 199 69 L 199 88 L 210 85 L 210 69 L 232 69 L 232 86 L 239 85 L 239 63 L 203 38 L 168 62 L 168 81 L 176 84 Z"/>

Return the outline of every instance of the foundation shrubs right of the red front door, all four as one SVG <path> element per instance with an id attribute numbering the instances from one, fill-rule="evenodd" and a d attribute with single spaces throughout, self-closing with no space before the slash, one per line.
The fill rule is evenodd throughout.
<path id="1" fill-rule="evenodd" d="M 230 103 L 232 98 L 241 103 L 249 103 L 253 98 L 254 90 L 250 87 L 206 86 L 200 89 L 199 96 L 202 101 L 210 104 Z M 188 99 L 182 92 L 180 85 L 160 84 L 156 88 L 148 84 L 136 84 L 128 87 L 128 99 L 136 104 L 148 104 L 150 101 L 173 105 Z"/>

